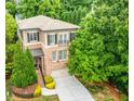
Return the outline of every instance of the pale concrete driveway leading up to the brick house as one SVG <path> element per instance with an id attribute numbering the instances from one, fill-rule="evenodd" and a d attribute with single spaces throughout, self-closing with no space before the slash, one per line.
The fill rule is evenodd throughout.
<path id="1" fill-rule="evenodd" d="M 86 88 L 67 68 L 52 72 L 56 81 L 56 92 L 59 101 L 95 101 Z"/>

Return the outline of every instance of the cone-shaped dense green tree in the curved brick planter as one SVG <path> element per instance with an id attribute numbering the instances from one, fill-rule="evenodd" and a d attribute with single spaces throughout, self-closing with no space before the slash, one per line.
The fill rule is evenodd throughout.
<path id="1" fill-rule="evenodd" d="M 34 66 L 34 59 L 29 50 L 25 52 L 18 47 L 14 55 L 14 70 L 11 83 L 15 87 L 24 88 L 37 81 L 37 74 Z"/>

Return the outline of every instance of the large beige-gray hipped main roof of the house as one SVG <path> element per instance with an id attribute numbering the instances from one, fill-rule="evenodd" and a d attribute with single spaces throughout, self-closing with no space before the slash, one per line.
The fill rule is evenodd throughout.
<path id="1" fill-rule="evenodd" d="M 39 28 L 41 30 L 58 30 L 58 29 L 77 29 L 79 26 L 54 20 L 48 16 L 39 15 L 26 20 L 22 20 L 18 23 L 19 29 L 32 29 Z"/>

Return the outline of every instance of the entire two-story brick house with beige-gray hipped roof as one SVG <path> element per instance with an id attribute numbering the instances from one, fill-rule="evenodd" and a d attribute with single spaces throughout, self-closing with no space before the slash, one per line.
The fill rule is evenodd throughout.
<path id="1" fill-rule="evenodd" d="M 66 67 L 69 41 L 79 26 L 43 15 L 18 21 L 17 26 L 23 48 L 30 49 L 43 74 Z"/>

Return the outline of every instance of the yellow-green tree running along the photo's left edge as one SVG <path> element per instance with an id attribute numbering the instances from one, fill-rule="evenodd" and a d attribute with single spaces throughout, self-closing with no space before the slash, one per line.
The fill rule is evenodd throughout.
<path id="1" fill-rule="evenodd" d="M 13 55 L 15 49 L 16 22 L 14 17 L 5 15 L 5 73 L 10 76 L 13 70 Z"/>

